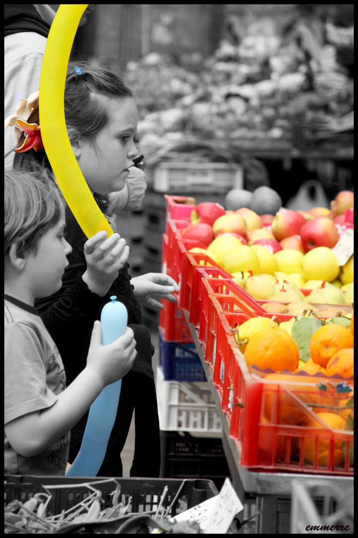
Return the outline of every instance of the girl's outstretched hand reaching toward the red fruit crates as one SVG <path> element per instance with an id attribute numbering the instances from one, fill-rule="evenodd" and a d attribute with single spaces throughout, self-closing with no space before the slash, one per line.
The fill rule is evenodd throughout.
<path id="1" fill-rule="evenodd" d="M 172 292 L 179 292 L 180 288 L 175 280 L 163 273 L 146 273 L 141 277 L 131 279 L 134 285 L 134 295 L 139 303 L 148 305 L 157 310 L 163 309 L 160 298 L 170 302 L 177 302 Z"/>

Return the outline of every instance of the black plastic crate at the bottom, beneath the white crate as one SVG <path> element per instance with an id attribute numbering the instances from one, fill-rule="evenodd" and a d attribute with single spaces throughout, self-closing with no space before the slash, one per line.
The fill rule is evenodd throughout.
<path id="1" fill-rule="evenodd" d="M 221 490 L 230 470 L 222 440 L 193 437 L 187 431 L 160 431 L 160 476 L 213 480 Z"/>

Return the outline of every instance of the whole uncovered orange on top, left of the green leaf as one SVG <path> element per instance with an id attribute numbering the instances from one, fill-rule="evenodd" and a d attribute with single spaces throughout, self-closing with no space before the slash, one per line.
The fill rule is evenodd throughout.
<path id="1" fill-rule="evenodd" d="M 269 328 L 256 332 L 245 349 L 249 368 L 253 365 L 261 370 L 271 368 L 274 372 L 298 367 L 298 348 L 294 339 L 283 329 Z"/>

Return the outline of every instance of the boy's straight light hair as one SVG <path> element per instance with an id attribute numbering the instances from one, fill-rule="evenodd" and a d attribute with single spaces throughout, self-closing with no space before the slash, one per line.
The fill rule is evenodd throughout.
<path id="1" fill-rule="evenodd" d="M 37 251 L 40 237 L 60 221 L 64 205 L 48 174 L 5 172 L 5 254 L 17 243 L 17 256 Z"/>

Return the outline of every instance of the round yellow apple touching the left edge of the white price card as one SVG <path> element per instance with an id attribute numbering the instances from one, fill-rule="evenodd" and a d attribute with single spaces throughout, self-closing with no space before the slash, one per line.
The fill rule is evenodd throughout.
<path id="1" fill-rule="evenodd" d="M 303 278 L 308 280 L 324 279 L 332 282 L 339 275 L 337 256 L 327 246 L 316 246 L 302 258 Z"/>

